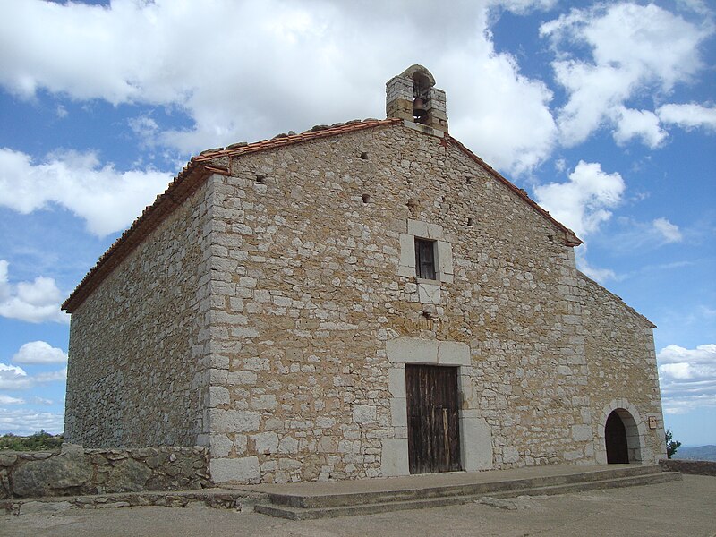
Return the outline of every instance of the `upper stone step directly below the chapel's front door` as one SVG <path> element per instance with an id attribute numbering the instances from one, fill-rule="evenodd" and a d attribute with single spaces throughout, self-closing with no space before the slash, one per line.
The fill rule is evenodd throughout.
<path id="1" fill-rule="evenodd" d="M 419 487 L 410 489 L 388 489 L 379 491 L 349 492 L 337 494 L 311 494 L 311 493 L 273 493 L 268 492 L 268 499 L 275 505 L 315 508 L 315 507 L 343 507 L 361 504 L 379 504 L 393 501 L 408 501 L 413 499 L 443 498 L 447 496 L 477 496 L 499 491 L 524 490 L 542 486 L 556 486 L 562 484 L 590 481 L 604 481 L 621 477 L 650 475 L 662 473 L 660 465 L 633 465 L 619 466 L 604 470 L 584 470 L 579 473 L 566 473 L 558 475 L 544 475 L 531 478 L 500 479 L 495 475 L 489 482 L 473 482 L 462 484 L 449 484 L 433 487 Z M 387 482 L 389 486 L 389 483 Z"/>

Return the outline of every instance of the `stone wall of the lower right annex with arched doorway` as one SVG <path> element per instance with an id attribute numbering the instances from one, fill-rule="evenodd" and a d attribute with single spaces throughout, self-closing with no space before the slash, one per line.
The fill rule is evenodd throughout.
<path id="1" fill-rule="evenodd" d="M 642 462 L 655 463 L 666 457 L 666 443 L 654 327 L 617 296 L 581 273 L 579 284 L 597 460 L 606 462 L 603 439 L 609 413 L 623 408 L 635 421 L 631 425 L 635 427 L 633 434 L 638 436 L 641 451 L 630 457 L 635 455 Z M 625 425 L 629 436 L 630 423 Z"/>

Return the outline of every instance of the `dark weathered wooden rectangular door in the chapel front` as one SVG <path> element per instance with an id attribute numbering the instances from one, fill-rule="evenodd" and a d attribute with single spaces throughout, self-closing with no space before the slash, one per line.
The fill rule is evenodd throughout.
<path id="1" fill-rule="evenodd" d="M 461 470 L 457 368 L 405 364 L 410 473 Z"/>

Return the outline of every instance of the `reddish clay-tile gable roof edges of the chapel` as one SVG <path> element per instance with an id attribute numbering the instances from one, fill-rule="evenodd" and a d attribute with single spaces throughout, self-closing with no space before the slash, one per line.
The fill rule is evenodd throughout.
<path id="1" fill-rule="evenodd" d="M 280 149 L 286 146 L 303 143 L 306 141 L 315 141 L 322 138 L 330 138 L 345 134 L 346 132 L 358 132 L 366 129 L 373 129 L 380 126 L 395 126 L 404 124 L 405 120 L 400 118 L 388 119 L 365 119 L 346 122 L 345 124 L 334 125 L 317 125 L 306 132 L 300 134 L 279 134 L 271 140 L 262 140 L 254 143 L 238 143 L 227 146 L 226 148 L 208 149 L 202 151 L 199 156 L 192 157 L 189 163 L 183 167 L 182 171 L 176 175 L 175 179 L 166 187 L 166 191 L 159 194 L 150 206 L 145 208 L 139 217 L 137 217 L 132 226 L 127 228 L 119 238 L 103 253 L 95 266 L 90 269 L 85 277 L 82 278 L 80 284 L 72 291 L 72 294 L 62 304 L 62 309 L 72 313 L 77 309 L 84 300 L 108 277 L 112 271 L 141 244 L 144 239 L 164 219 L 179 207 L 184 200 L 187 200 L 193 192 L 200 187 L 202 183 L 212 174 L 229 175 L 226 166 L 219 166 L 215 159 L 224 157 L 240 157 L 251 153 L 258 153 L 268 149 Z M 577 238 L 575 233 L 563 226 L 557 220 L 550 216 L 550 213 L 542 209 L 536 202 L 530 199 L 527 192 L 517 188 L 514 184 L 507 181 L 505 177 L 500 175 L 492 167 L 488 166 L 482 158 L 479 158 L 472 151 L 456 141 L 449 134 L 445 134 L 443 143 L 454 145 L 460 149 L 469 158 L 472 158 L 477 164 L 482 166 L 490 175 L 503 183 L 522 198 L 542 217 L 545 217 L 551 224 L 557 226 L 565 234 L 565 244 L 567 246 L 577 246 L 582 241 Z"/>

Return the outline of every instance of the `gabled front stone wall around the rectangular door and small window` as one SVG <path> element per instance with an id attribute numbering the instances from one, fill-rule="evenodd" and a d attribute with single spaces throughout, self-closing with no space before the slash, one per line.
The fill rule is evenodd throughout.
<path id="1" fill-rule="evenodd" d="M 573 252 L 515 192 L 403 126 L 219 164 L 231 176 L 210 187 L 215 480 L 381 475 L 383 440 L 405 438 L 389 404 L 397 337 L 469 345 L 463 406 L 490 431 L 495 468 L 593 463 Z M 408 219 L 451 243 L 439 303 L 397 274 Z"/>

